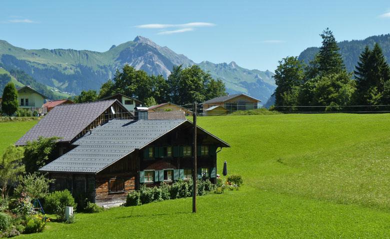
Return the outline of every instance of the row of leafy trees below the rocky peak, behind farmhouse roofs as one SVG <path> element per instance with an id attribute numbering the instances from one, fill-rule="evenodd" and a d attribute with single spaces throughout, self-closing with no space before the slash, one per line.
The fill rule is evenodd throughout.
<path id="1" fill-rule="evenodd" d="M 162 75 L 147 75 L 126 64 L 116 70 L 113 78 L 102 84 L 98 92 L 83 90 L 74 100 L 90 102 L 116 93 L 142 101 L 146 106 L 165 102 L 186 105 L 226 95 L 226 89 L 222 80 L 213 79 L 197 65 L 173 66 L 165 80 Z"/>

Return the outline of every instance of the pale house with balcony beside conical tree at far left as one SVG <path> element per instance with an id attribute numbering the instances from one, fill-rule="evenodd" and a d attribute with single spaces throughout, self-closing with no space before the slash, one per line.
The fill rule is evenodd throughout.
<path id="1" fill-rule="evenodd" d="M 43 113 L 43 104 L 47 99 L 46 96 L 32 89 L 30 86 L 23 86 L 17 88 L 17 102 L 19 102 L 19 108 L 25 110 L 36 111 L 39 114 Z M 0 103 L 1 103 L 0 98 Z"/>

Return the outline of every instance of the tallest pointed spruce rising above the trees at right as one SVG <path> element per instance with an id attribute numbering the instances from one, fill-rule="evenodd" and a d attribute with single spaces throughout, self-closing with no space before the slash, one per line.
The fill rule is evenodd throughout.
<path id="1" fill-rule="evenodd" d="M 326 28 L 322 34 L 322 46 L 318 52 L 318 67 L 321 75 L 337 74 L 345 71 L 345 66 L 339 53 L 337 42 L 333 36 L 333 32 Z"/>

